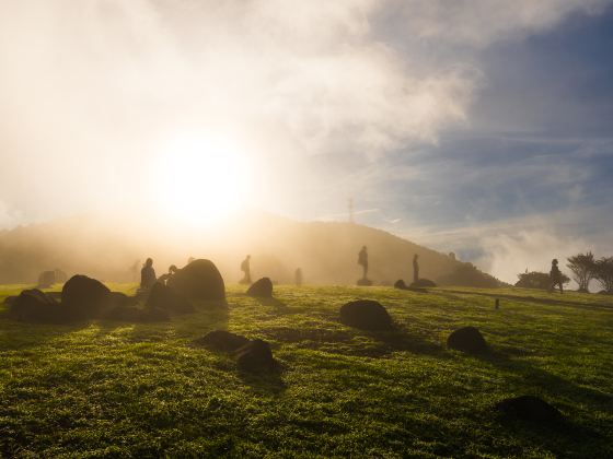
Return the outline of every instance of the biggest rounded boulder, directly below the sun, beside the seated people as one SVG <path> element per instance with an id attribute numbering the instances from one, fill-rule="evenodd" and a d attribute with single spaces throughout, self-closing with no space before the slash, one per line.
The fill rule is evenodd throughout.
<path id="1" fill-rule="evenodd" d="M 193 301 L 225 299 L 225 285 L 217 267 L 210 260 L 194 260 L 172 275 L 167 285 Z"/>

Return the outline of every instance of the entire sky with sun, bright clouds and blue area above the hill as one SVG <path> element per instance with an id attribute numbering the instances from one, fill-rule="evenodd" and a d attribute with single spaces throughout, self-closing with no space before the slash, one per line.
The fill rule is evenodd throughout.
<path id="1" fill-rule="evenodd" d="M 507 282 L 613 255 L 610 0 L 0 0 L 0 66 L 2 228 L 352 198 Z"/>

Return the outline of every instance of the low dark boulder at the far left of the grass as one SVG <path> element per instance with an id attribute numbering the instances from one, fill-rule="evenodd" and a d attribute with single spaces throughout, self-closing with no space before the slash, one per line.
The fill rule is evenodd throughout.
<path id="1" fill-rule="evenodd" d="M 61 321 L 60 305 L 38 289 L 24 290 L 11 299 L 8 310 L 13 320 L 53 323 Z"/>

